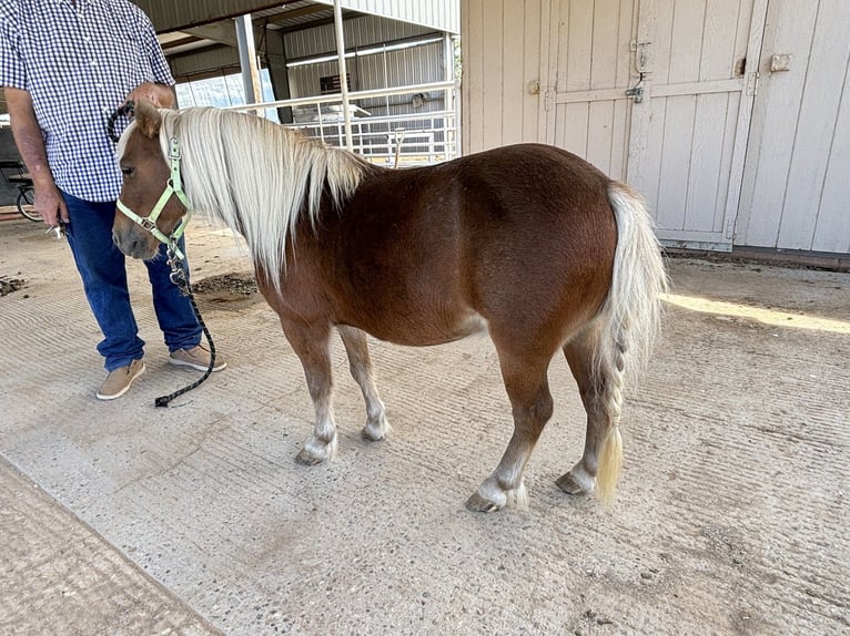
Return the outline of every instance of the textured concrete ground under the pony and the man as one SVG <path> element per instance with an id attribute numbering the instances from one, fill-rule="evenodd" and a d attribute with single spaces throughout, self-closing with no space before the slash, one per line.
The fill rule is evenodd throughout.
<path id="1" fill-rule="evenodd" d="M 250 270 L 201 222 L 188 242 L 196 283 Z M 303 375 L 256 295 L 200 297 L 230 367 L 158 409 L 196 376 L 130 264 L 148 372 L 99 402 L 67 244 L 0 223 L 0 633 L 847 634 L 850 275 L 669 266 L 613 509 L 555 486 L 584 433 L 556 359 L 530 507 L 483 515 L 464 501 L 510 434 L 486 338 L 374 342 L 381 443 L 337 342 L 340 455 L 305 468 Z"/>

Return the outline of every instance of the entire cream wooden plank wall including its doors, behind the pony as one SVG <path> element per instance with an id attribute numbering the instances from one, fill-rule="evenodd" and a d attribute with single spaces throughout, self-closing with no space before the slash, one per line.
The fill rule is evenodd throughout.
<path id="1" fill-rule="evenodd" d="M 462 49 L 464 153 L 566 147 L 672 244 L 850 253 L 850 1 L 463 0 Z"/>

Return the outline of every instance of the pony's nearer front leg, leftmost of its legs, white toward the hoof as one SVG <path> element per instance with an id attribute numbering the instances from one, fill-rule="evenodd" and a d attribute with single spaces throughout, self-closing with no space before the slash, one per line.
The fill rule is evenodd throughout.
<path id="1" fill-rule="evenodd" d="M 316 413 L 313 434 L 295 460 L 313 465 L 336 457 L 336 424 L 333 411 L 333 377 L 331 372 L 331 328 L 304 326 L 281 319 L 283 331 L 301 359 L 307 389 Z"/>

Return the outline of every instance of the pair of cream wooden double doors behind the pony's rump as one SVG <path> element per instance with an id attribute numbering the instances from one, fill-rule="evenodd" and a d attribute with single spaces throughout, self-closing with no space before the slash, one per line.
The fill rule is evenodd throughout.
<path id="1" fill-rule="evenodd" d="M 552 0 L 546 141 L 641 192 L 666 244 L 731 249 L 766 8 Z"/>

